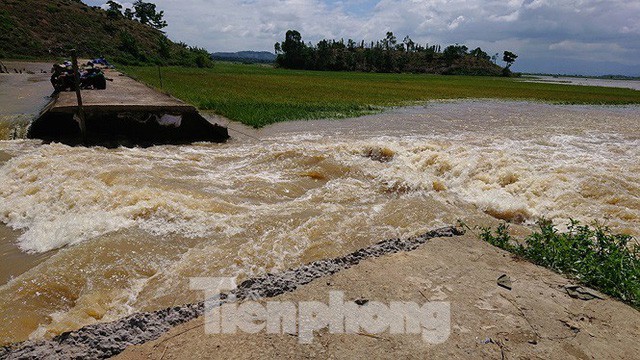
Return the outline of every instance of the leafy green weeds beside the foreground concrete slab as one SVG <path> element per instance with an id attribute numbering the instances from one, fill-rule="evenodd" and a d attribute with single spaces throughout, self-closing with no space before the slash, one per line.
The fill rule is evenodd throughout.
<path id="1" fill-rule="evenodd" d="M 631 236 L 573 220 L 565 233 L 544 220 L 539 228 L 522 242 L 506 224 L 483 228 L 480 238 L 640 309 L 640 246 Z"/>

